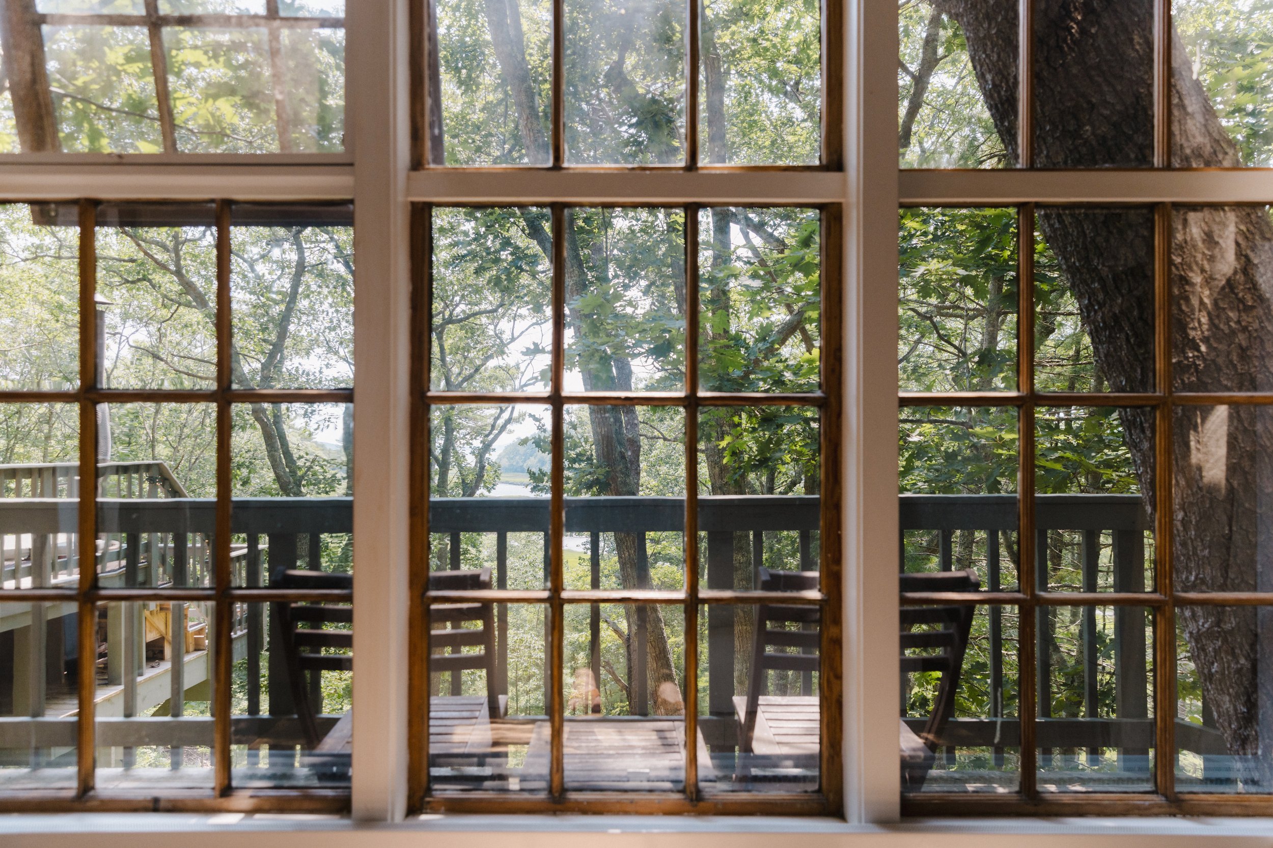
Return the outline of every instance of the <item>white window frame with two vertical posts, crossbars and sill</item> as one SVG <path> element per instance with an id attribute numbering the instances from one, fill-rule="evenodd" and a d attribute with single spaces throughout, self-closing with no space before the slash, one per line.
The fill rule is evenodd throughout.
<path id="1" fill-rule="evenodd" d="M 917 823 L 881 829 L 900 815 L 897 768 L 897 463 L 896 463 L 896 210 L 899 203 L 1011 205 L 1026 201 L 1202 201 L 1212 203 L 1273 200 L 1273 169 L 1241 172 L 901 172 L 896 150 L 896 0 L 843 0 L 845 4 L 843 172 L 411 172 L 409 93 L 409 0 L 349 0 L 346 11 L 346 144 L 344 158 L 314 164 L 311 158 L 244 158 L 239 161 L 137 156 L 50 158 L 17 155 L 0 160 L 0 201 L 223 198 L 241 201 L 348 200 L 355 202 L 355 416 L 354 572 L 363 613 L 355 629 L 353 819 L 402 823 L 407 770 L 407 622 L 410 481 L 410 206 L 412 202 L 588 200 L 589 202 L 841 203 L 844 209 L 844 823 L 822 820 L 695 821 L 663 820 L 662 845 L 769 844 L 773 831 L 802 833 L 810 844 L 915 844 L 942 839 L 948 845 L 995 842 L 985 826 Z M 187 164 L 188 163 L 188 164 Z M 369 614 L 370 612 L 370 614 Z M 470 844 L 479 833 L 516 831 L 527 844 L 560 845 L 578 837 L 591 844 L 601 830 L 653 826 L 649 819 L 614 816 L 574 820 L 507 817 L 466 825 L 423 816 L 409 829 L 377 831 L 388 844 L 400 837 L 430 844 Z M 116 843 L 130 848 L 172 833 L 113 819 L 94 825 L 83 814 L 0 823 L 6 844 Z M 174 824 L 216 834 L 229 828 L 248 845 L 313 845 L 348 839 L 353 824 L 297 823 L 248 826 L 233 814 Z M 1180 844 L 1216 844 L 1260 825 L 1209 829 L 1165 824 L 1120 824 L 1118 835 L 1091 823 L 1088 844 L 1151 844 L 1175 831 Z M 288 831 L 280 831 L 285 828 Z M 466 831 L 465 829 L 468 828 Z M 566 837 L 563 829 L 575 833 Z M 1104 828 L 1104 829 L 1102 829 Z M 1181 830 L 1181 828 L 1184 828 Z M 1048 833 L 1023 820 L 992 828 L 1011 834 Z M 59 833 L 53 833 L 53 830 Z M 476 833 L 475 833 L 476 830 Z M 917 837 L 917 830 L 925 835 Z M 532 831 L 542 835 L 535 837 Z M 4 834 L 27 834 L 10 842 Z M 80 833 L 83 839 L 69 839 Z M 224 834 L 225 830 L 220 830 Z M 360 831 L 367 833 L 367 831 Z M 1074 831 L 1068 831 L 1073 835 Z M 1105 838 L 1097 834 L 1106 834 Z M 1130 835 L 1139 833 L 1141 837 Z M 45 834 L 47 838 L 41 838 Z M 857 835 L 854 835 L 857 834 Z M 192 837 L 190 837 L 192 838 Z M 213 837 L 216 838 L 216 837 Z M 726 839 L 729 842 L 727 843 Z M 1115 843 L 1118 839 L 1120 842 Z M 56 842 L 53 842 L 56 840 Z M 405 842 L 404 839 L 400 839 Z M 1188 840 L 1188 842 L 1184 842 Z M 1253 843 L 1254 844 L 1254 843 Z M 1267 844 L 1262 840 L 1259 844 Z"/>

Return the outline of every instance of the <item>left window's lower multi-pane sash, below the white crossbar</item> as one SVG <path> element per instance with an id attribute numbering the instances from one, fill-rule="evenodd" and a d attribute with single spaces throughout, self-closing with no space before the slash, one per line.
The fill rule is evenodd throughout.
<path id="1" fill-rule="evenodd" d="M 0 207 L 15 809 L 348 787 L 351 224 L 349 205 Z"/>

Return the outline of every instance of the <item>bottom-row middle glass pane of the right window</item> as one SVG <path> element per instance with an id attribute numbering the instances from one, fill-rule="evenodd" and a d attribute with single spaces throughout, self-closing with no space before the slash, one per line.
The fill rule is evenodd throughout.
<path id="1" fill-rule="evenodd" d="M 1037 617 L 1039 791 L 1151 791 L 1152 613 L 1044 606 Z"/>

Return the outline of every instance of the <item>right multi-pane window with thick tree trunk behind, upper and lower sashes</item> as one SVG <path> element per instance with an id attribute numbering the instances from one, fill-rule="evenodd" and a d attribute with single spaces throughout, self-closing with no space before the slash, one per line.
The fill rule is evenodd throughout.
<path id="1" fill-rule="evenodd" d="M 1268 164 L 1268 24 L 1249 3 L 903 4 L 904 168 L 1162 175 L 904 170 L 909 811 L 1267 810 L 1273 219 L 1166 169 Z"/>

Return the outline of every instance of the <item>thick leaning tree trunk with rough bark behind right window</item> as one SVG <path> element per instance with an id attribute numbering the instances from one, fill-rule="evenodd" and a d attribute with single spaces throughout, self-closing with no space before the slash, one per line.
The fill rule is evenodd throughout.
<path id="1" fill-rule="evenodd" d="M 967 37 L 995 127 L 1016 155 L 1016 61 L 1007 5 L 941 0 Z M 1036 164 L 1148 165 L 1152 160 L 1150 0 L 1043 0 L 1036 27 Z M 1172 47 L 1176 165 L 1236 165 L 1179 37 Z M 1144 214 L 1044 210 L 1039 226 L 1080 304 L 1096 362 L 1115 392 L 1152 386 L 1153 229 Z M 1176 210 L 1172 222 L 1174 378 L 1180 390 L 1254 390 L 1273 384 L 1273 226 L 1263 209 Z M 1155 512 L 1152 417 L 1123 425 Z M 1267 411 L 1183 407 L 1174 420 L 1175 586 L 1179 591 L 1273 587 L 1268 515 L 1273 497 Z M 1204 698 L 1231 754 L 1253 758 L 1242 778 L 1268 786 L 1273 744 L 1273 652 L 1253 608 L 1181 608 L 1178 615 Z M 1161 671 L 1160 671 L 1161 673 Z M 1262 674 L 1263 673 L 1263 674 Z M 1262 680 L 1263 678 L 1263 680 Z M 1265 689 L 1262 692 L 1262 689 Z M 1166 717 L 1164 717 L 1166 718 Z"/>

